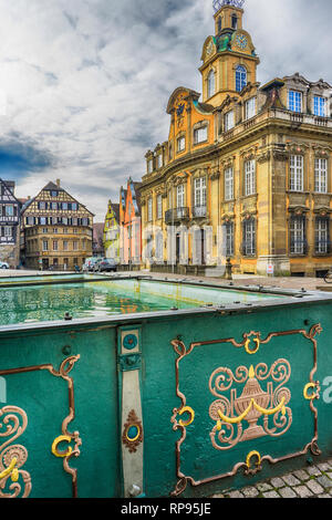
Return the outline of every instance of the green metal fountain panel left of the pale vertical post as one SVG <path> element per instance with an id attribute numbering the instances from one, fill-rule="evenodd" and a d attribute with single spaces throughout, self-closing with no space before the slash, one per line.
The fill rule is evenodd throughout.
<path id="1" fill-rule="evenodd" d="M 69 461 L 77 469 L 77 496 L 106 498 L 121 493 L 115 330 L 80 332 L 73 327 L 71 332 L 55 329 L 1 340 L 1 371 L 31 368 L 3 376 L 3 405 L 19 407 L 28 417 L 27 429 L 15 444 L 28 451 L 22 469 L 31 477 L 31 498 L 73 496 L 71 474 L 64 470 L 63 459 L 51 451 L 70 416 L 68 381 L 48 368 L 32 368 L 51 365 L 59 372 L 64 360 L 76 355 L 80 358 L 68 374 L 74 385 L 75 409 L 68 429 L 77 430 L 82 440 L 80 456 Z M 59 450 L 66 451 L 69 446 L 74 444 L 61 443 Z"/>

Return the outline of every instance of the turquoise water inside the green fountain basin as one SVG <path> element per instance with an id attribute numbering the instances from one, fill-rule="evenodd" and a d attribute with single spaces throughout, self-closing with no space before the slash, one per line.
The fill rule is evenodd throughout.
<path id="1" fill-rule="evenodd" d="M 0 288 L 0 326 L 73 319 L 106 319 L 114 314 L 193 309 L 227 303 L 255 303 L 280 299 L 218 288 L 160 283 L 145 280 L 107 280 Z"/>

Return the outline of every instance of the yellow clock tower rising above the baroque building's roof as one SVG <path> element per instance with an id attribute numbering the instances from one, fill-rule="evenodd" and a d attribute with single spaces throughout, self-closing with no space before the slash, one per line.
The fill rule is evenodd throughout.
<path id="1" fill-rule="evenodd" d="M 214 0 L 215 35 L 206 39 L 199 71 L 203 102 L 219 106 L 256 83 L 259 58 L 250 34 L 242 28 L 245 0 Z"/>

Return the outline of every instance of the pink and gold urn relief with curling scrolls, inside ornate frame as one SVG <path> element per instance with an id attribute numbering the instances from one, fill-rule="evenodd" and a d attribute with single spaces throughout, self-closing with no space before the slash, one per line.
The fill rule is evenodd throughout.
<path id="1" fill-rule="evenodd" d="M 212 395 L 219 397 L 209 408 L 209 416 L 216 420 L 210 438 L 216 449 L 230 449 L 236 444 L 270 435 L 283 435 L 292 423 L 292 413 L 286 405 L 290 402 L 291 393 L 283 386 L 291 375 L 291 367 L 287 360 L 276 361 L 270 370 L 264 363 L 239 366 L 235 375 L 230 368 L 219 367 L 210 376 L 209 388 Z M 263 392 L 259 382 L 272 378 L 279 383 L 273 391 L 272 382 Z M 239 397 L 234 384 L 243 384 Z M 228 398 L 225 393 L 230 391 Z M 263 416 L 263 423 L 258 424 Z M 273 428 L 269 428 L 269 416 L 273 416 Z M 248 423 L 243 429 L 242 422 Z M 237 429 L 235 428 L 237 426 Z M 228 435 L 226 435 L 226 430 Z M 216 439 L 217 437 L 217 439 Z"/>

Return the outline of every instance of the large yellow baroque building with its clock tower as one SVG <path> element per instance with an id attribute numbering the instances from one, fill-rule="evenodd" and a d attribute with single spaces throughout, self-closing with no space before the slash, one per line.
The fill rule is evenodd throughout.
<path id="1" fill-rule="evenodd" d="M 188 273 L 228 257 L 235 272 L 322 275 L 332 257 L 332 87 L 299 73 L 258 83 L 242 2 L 215 3 L 203 101 L 176 89 L 168 139 L 146 154 L 143 262 Z"/>

